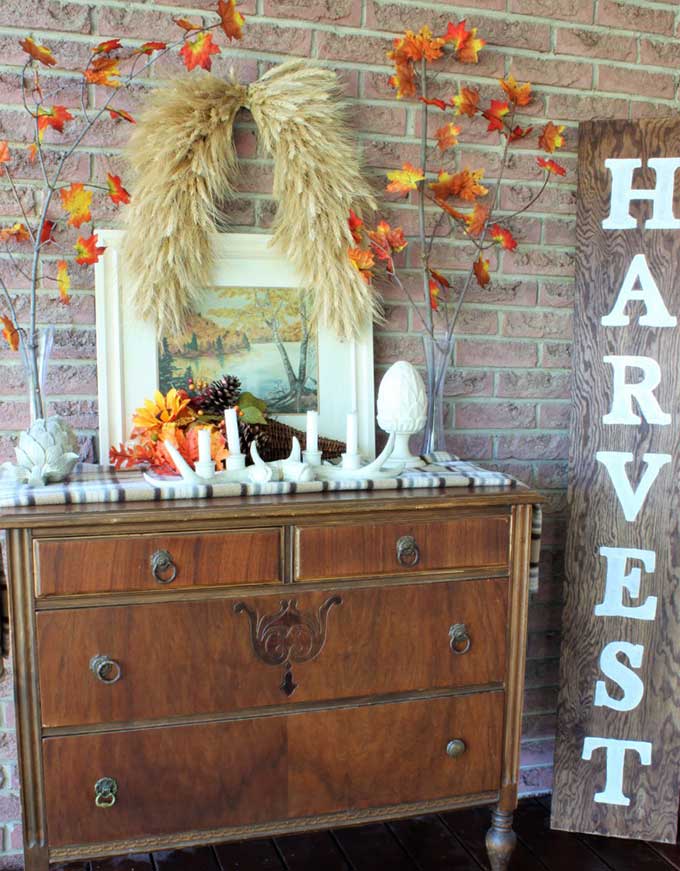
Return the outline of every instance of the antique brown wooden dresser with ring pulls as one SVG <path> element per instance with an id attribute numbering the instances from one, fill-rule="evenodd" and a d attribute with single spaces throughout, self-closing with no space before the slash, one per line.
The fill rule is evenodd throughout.
<path id="1" fill-rule="evenodd" d="M 482 804 L 504 869 L 536 498 L 6 512 L 27 871 Z"/>

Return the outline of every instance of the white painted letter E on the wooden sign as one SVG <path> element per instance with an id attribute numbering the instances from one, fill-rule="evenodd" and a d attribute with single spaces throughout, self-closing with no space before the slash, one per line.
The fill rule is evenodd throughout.
<path id="1" fill-rule="evenodd" d="M 604 599 L 595 605 L 595 616 L 653 620 L 656 617 L 656 596 L 648 596 L 642 605 L 624 605 L 623 591 L 628 590 L 631 599 L 639 598 L 642 572 L 636 567 L 626 574 L 626 566 L 629 559 L 636 559 L 640 560 L 646 572 L 653 572 L 656 568 L 654 551 L 634 547 L 601 547 L 600 556 L 607 560 L 607 578 Z"/>

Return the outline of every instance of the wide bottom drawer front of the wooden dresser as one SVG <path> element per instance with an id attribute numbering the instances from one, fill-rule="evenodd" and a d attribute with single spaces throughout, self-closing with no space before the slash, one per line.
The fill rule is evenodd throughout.
<path id="1" fill-rule="evenodd" d="M 502 727 L 503 693 L 486 692 L 47 738 L 48 837 L 86 845 L 492 791 Z M 461 755 L 447 753 L 454 739 Z M 100 787 L 98 807 L 102 778 L 115 802 Z"/>

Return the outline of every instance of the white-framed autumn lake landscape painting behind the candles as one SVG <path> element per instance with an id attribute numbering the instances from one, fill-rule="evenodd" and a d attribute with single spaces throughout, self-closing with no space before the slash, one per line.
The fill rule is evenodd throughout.
<path id="1" fill-rule="evenodd" d="M 123 231 L 98 230 L 96 266 L 100 455 L 125 441 L 134 410 L 156 389 L 237 376 L 268 412 L 299 429 L 319 411 L 319 431 L 344 439 L 357 410 L 359 449 L 375 454 L 373 334 L 341 341 L 313 324 L 292 265 L 263 234 L 216 234 L 210 286 L 179 335 L 156 334 L 135 315 L 121 247 Z"/>

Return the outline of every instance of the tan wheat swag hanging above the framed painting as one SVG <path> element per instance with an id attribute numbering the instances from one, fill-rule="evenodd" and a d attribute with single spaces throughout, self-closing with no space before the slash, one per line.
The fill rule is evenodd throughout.
<path id="1" fill-rule="evenodd" d="M 150 98 L 129 147 L 135 179 L 124 256 L 137 310 L 176 334 L 200 302 L 217 204 L 234 191 L 233 127 L 242 107 L 274 157 L 272 243 L 311 292 L 313 317 L 354 337 L 367 318 L 380 317 L 380 306 L 347 256 L 354 244 L 347 220 L 350 209 L 365 213 L 375 201 L 337 76 L 304 61 L 274 67 L 251 85 L 194 75 Z"/>

